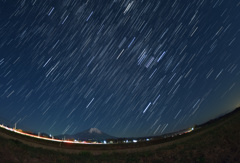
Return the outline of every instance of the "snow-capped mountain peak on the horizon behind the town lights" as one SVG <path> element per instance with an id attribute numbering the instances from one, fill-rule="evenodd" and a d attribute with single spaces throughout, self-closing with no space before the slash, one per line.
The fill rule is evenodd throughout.
<path id="1" fill-rule="evenodd" d="M 73 135 L 64 134 L 64 135 L 55 136 L 55 138 L 75 139 L 75 140 L 83 140 L 83 141 L 88 141 L 88 140 L 101 141 L 106 139 L 115 139 L 116 137 L 108 135 L 97 128 L 90 128 L 88 130 L 85 130 Z"/>

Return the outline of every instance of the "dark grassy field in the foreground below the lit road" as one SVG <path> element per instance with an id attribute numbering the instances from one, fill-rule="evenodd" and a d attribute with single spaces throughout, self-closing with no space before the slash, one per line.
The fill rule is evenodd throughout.
<path id="1" fill-rule="evenodd" d="M 240 110 L 197 131 L 154 145 L 105 146 L 101 150 L 28 142 L 0 130 L 0 162 L 240 162 Z"/>

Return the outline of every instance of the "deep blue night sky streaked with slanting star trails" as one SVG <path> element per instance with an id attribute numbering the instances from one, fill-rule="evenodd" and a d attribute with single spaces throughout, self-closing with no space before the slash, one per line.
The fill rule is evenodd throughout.
<path id="1" fill-rule="evenodd" d="M 238 0 L 1 0 L 0 123 L 161 135 L 240 105 Z"/>

